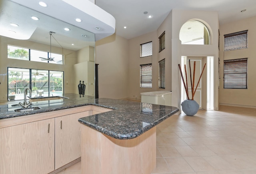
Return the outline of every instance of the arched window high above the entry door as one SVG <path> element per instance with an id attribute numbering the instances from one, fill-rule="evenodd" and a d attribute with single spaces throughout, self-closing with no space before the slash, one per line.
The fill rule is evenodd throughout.
<path id="1" fill-rule="evenodd" d="M 180 28 L 181 44 L 209 45 L 210 32 L 208 28 L 197 20 L 190 20 Z"/>

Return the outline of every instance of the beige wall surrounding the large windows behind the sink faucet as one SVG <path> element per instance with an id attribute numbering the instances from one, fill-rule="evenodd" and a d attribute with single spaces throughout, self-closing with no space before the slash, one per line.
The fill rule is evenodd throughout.
<path id="1" fill-rule="evenodd" d="M 7 58 L 7 45 L 20 46 L 24 48 L 31 48 L 35 50 L 50 51 L 49 45 L 38 44 L 36 42 L 31 42 L 28 40 L 15 40 L 11 38 L 6 38 L 0 36 L 0 102 L 6 102 L 7 99 L 7 67 L 12 68 L 32 68 L 32 69 L 42 69 L 42 70 L 56 70 L 64 71 L 64 81 L 65 81 L 65 93 L 73 92 L 74 81 L 73 81 L 73 65 L 76 63 L 76 52 L 72 50 L 67 50 L 52 46 L 52 52 L 59 54 L 67 54 L 65 56 L 65 64 L 48 64 L 44 62 L 34 62 L 34 61 L 24 61 L 17 59 Z M 47 68 L 46 68 L 47 67 Z"/>

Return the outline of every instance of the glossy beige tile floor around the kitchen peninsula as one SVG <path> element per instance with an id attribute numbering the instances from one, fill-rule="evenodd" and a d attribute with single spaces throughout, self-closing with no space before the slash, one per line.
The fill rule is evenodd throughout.
<path id="1" fill-rule="evenodd" d="M 152 174 L 256 174 L 256 109 L 220 106 L 157 126 Z M 78 162 L 58 174 L 81 174 Z"/>

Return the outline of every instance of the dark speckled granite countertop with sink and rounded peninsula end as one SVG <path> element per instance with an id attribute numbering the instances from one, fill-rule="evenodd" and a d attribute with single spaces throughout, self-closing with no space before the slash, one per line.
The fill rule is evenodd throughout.
<path id="1" fill-rule="evenodd" d="M 33 102 L 33 107 L 41 109 L 30 112 L 14 112 L 12 104 L 0 105 L 0 119 L 75 108 L 86 105 L 113 109 L 109 112 L 80 118 L 82 124 L 117 139 L 132 139 L 166 120 L 180 110 L 172 106 L 146 104 L 127 100 L 79 97 L 78 94 L 65 94 L 66 99 Z M 17 102 L 18 103 L 18 102 Z M 13 104 L 16 104 L 15 102 Z"/>

